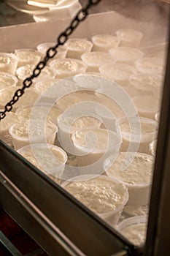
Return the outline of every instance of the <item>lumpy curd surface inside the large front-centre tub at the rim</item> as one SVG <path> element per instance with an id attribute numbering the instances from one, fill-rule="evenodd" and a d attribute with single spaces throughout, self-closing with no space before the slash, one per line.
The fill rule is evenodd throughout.
<path id="1" fill-rule="evenodd" d="M 116 211 L 117 208 L 123 208 L 127 201 L 127 189 L 124 185 L 101 176 L 63 184 L 63 187 L 96 214 Z"/>

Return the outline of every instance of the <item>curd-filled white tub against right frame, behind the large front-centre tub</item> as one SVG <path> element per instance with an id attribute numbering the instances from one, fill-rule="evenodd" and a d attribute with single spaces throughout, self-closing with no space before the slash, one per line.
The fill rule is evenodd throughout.
<path id="1" fill-rule="evenodd" d="M 128 205 L 143 206 L 150 200 L 153 165 L 154 158 L 150 155 L 120 152 L 112 165 L 108 159 L 104 162 L 104 169 L 109 177 L 128 187 Z"/>

